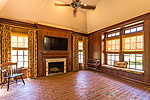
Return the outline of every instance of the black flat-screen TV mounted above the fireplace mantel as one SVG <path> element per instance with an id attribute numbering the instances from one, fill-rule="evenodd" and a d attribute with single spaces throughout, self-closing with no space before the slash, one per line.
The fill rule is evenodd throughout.
<path id="1" fill-rule="evenodd" d="M 45 50 L 68 50 L 68 39 L 58 37 L 44 37 L 44 49 Z"/>

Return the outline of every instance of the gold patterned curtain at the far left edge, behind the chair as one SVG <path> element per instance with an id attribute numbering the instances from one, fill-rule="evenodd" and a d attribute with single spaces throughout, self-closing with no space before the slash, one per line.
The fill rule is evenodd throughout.
<path id="1" fill-rule="evenodd" d="M 10 27 L 5 25 L 1 26 L 1 56 L 2 63 L 11 61 L 11 30 Z"/>

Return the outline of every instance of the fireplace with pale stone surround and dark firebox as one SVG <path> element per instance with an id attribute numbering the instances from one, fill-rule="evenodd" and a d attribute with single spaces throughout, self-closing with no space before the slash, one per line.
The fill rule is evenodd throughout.
<path id="1" fill-rule="evenodd" d="M 66 58 L 46 59 L 46 76 L 66 73 Z"/>

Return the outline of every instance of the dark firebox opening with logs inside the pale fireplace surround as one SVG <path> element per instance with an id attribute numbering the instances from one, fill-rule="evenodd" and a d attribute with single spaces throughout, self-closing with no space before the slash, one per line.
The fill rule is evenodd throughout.
<path id="1" fill-rule="evenodd" d="M 64 72 L 64 62 L 49 62 L 48 74 Z"/>

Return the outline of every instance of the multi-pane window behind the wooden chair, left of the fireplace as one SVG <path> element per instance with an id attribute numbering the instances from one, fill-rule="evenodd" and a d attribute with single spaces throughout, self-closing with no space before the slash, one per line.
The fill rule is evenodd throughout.
<path id="1" fill-rule="evenodd" d="M 11 36 L 12 62 L 17 62 L 18 67 L 28 67 L 28 37 Z"/>

